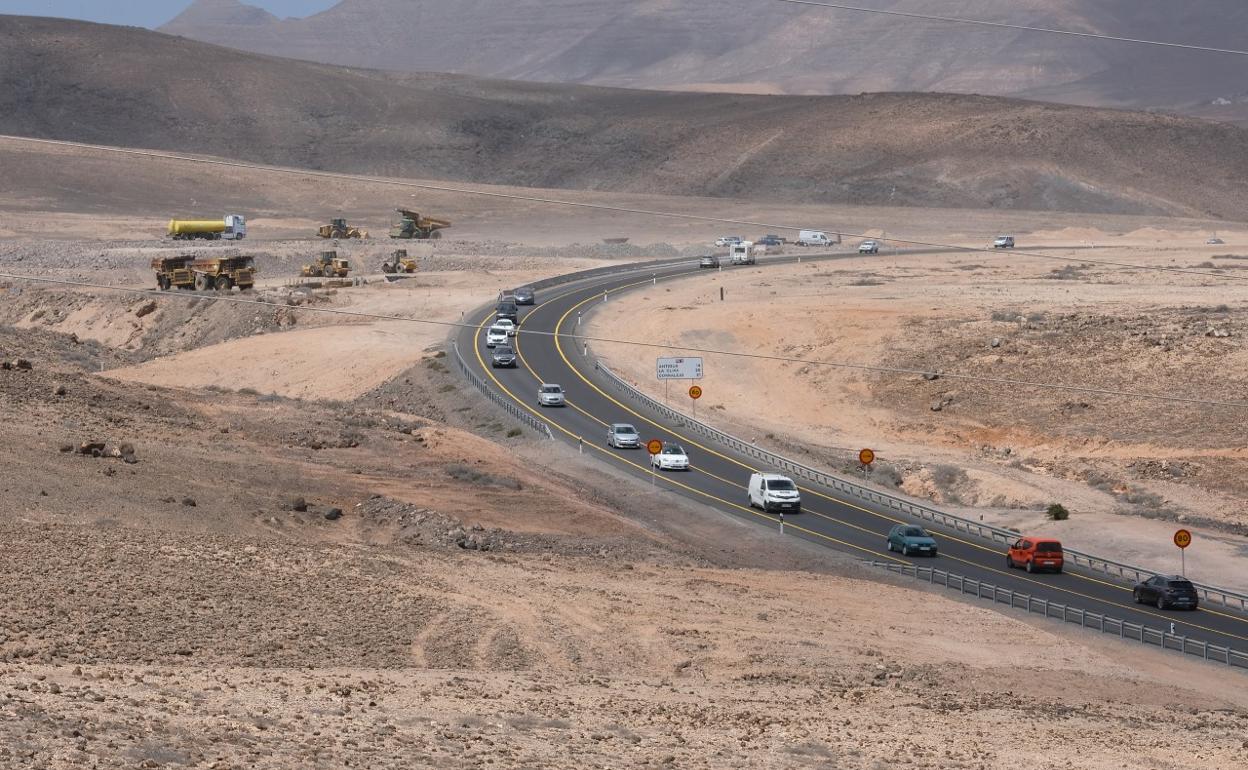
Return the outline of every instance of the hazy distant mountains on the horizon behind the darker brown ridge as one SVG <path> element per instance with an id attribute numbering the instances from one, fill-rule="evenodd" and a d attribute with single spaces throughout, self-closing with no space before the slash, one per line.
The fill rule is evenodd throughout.
<path id="1" fill-rule="evenodd" d="M 1244 47 L 1248 24 L 1239 0 L 865 5 L 1232 49 Z M 771 0 L 342 0 L 288 20 L 238 0 L 198 0 L 163 31 L 402 71 L 778 94 L 955 91 L 1248 119 L 1248 65 L 1237 57 Z"/>

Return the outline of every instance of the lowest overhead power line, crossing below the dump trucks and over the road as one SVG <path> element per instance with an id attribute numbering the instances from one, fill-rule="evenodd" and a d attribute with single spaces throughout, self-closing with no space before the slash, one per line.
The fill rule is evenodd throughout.
<path id="1" fill-rule="evenodd" d="M 262 306 L 262 307 L 273 307 L 273 308 L 291 309 L 291 306 L 286 305 L 285 302 L 271 302 L 271 301 L 267 301 L 267 300 L 253 300 L 253 298 L 250 298 L 250 297 L 226 297 L 226 296 L 201 295 L 201 293 L 182 295 L 182 293 L 177 293 L 177 292 L 172 292 L 171 293 L 171 292 L 163 292 L 163 291 L 158 291 L 158 290 L 150 290 L 150 288 L 132 288 L 132 287 L 125 287 L 125 286 L 109 286 L 106 283 L 94 283 L 94 282 L 90 282 L 90 281 L 74 281 L 74 280 L 69 280 L 69 278 L 46 278 L 46 277 L 41 277 L 41 276 L 21 276 L 21 275 L 16 275 L 16 273 L 0 273 L 0 278 L 6 278 L 6 280 L 10 280 L 10 281 L 29 281 L 29 282 L 32 282 L 32 283 L 50 283 L 50 285 L 56 285 L 56 286 L 72 286 L 72 287 L 77 287 L 77 288 L 92 288 L 92 290 L 100 290 L 100 291 L 115 291 L 115 292 L 142 295 L 142 296 L 157 297 L 157 298 L 170 298 L 170 300 L 182 300 L 182 298 L 185 298 L 187 301 L 203 301 L 203 300 L 208 300 L 208 301 L 213 301 L 213 302 L 230 302 L 230 303 L 233 303 L 233 305 L 248 305 L 248 306 Z M 421 323 L 421 324 L 427 324 L 427 326 L 441 326 L 441 327 L 447 327 L 447 328 L 469 328 L 469 329 L 477 329 L 478 328 L 477 324 L 474 324 L 474 323 L 467 323 L 467 322 L 463 322 L 463 321 L 436 321 L 436 319 L 432 319 L 432 318 L 404 318 L 402 316 L 388 316 L 388 314 L 384 314 L 384 313 L 367 313 L 367 312 L 363 312 L 363 311 L 348 311 L 348 309 L 333 308 L 333 307 L 300 307 L 298 309 L 306 311 L 306 312 L 313 312 L 313 313 L 326 313 L 326 314 L 332 314 L 332 316 L 349 316 L 352 318 L 369 318 L 369 319 L 373 319 L 373 321 L 401 321 L 401 322 L 406 322 L 406 323 Z M 781 362 L 781 363 L 801 363 L 801 364 L 806 364 L 806 366 L 819 366 L 819 367 L 827 367 L 827 368 L 836 368 L 836 369 L 854 369 L 854 371 L 860 371 L 860 372 L 875 372 L 875 373 L 882 373 L 882 374 L 915 374 L 915 376 L 937 374 L 937 376 L 943 377 L 946 379 L 958 379 L 958 381 L 963 381 L 963 382 L 983 382 L 983 383 L 995 384 L 995 386 L 1031 387 L 1031 388 L 1042 388 L 1042 389 L 1047 389 L 1047 391 L 1065 391 L 1065 392 L 1071 392 L 1071 393 L 1085 393 L 1085 394 L 1092 394 L 1092 396 L 1113 396 L 1113 397 L 1119 397 L 1119 398 L 1139 398 L 1139 399 L 1146 399 L 1146 401 L 1161 401 L 1161 402 L 1168 402 L 1168 403 L 1183 403 L 1183 404 L 1194 404 L 1194 406 L 1203 406 L 1203 407 L 1228 407 L 1228 408 L 1236 408 L 1236 409 L 1246 409 L 1246 408 L 1248 408 L 1248 402 L 1244 402 L 1244 401 L 1217 401 L 1217 399 L 1208 399 L 1208 398 L 1192 398 L 1192 397 L 1188 397 L 1188 396 L 1171 396 L 1168 393 L 1144 393 L 1144 392 L 1136 392 L 1136 391 L 1118 391 L 1118 389 L 1114 389 L 1114 388 L 1092 388 L 1092 387 L 1086 387 L 1086 386 L 1068 386 L 1068 384 L 1052 383 L 1052 382 L 1036 382 L 1036 381 L 1031 381 L 1031 379 L 1013 379 L 1013 378 L 1010 378 L 1010 377 L 983 377 L 983 376 L 980 376 L 980 374 L 958 374 L 958 373 L 953 373 L 953 372 L 946 372 L 943 369 L 910 369 L 910 368 L 904 368 L 904 367 L 885 367 L 885 366 L 872 366 L 872 364 L 862 364 L 862 363 L 845 363 L 845 362 L 837 362 L 837 361 L 815 361 L 815 359 L 809 359 L 809 358 L 794 358 L 794 357 L 789 357 L 789 356 L 768 356 L 765 353 L 746 353 L 746 352 L 741 352 L 741 351 L 721 351 L 721 349 L 704 348 L 704 347 L 686 347 L 686 346 L 679 346 L 679 344 L 664 344 L 664 343 L 660 343 L 660 342 L 641 342 L 641 341 L 638 341 L 638 339 L 614 339 L 612 337 L 592 337 L 592 336 L 588 336 L 588 334 L 567 334 L 567 333 L 560 334 L 559 332 L 542 332 L 542 331 L 535 331 L 535 329 L 525 329 L 523 327 L 519 328 L 519 329 L 517 329 L 517 333 L 518 334 L 525 334 L 528 337 L 559 337 L 559 336 L 563 336 L 563 337 L 572 337 L 572 338 L 574 338 L 577 341 L 584 341 L 584 342 L 602 342 L 602 343 L 609 343 L 609 344 L 625 344 L 625 346 L 633 346 L 633 347 L 658 348 L 658 349 L 664 349 L 664 351 L 680 351 L 680 352 L 685 352 L 685 353 L 703 353 L 703 354 L 706 354 L 706 356 L 728 356 L 728 357 L 733 357 L 733 358 L 751 358 L 751 359 L 758 359 L 758 361 L 773 361 L 773 362 Z"/>

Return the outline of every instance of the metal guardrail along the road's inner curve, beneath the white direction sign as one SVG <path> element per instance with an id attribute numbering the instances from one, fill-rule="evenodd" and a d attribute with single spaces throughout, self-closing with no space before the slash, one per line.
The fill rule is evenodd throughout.
<path id="1" fill-rule="evenodd" d="M 1018 539 L 1018 533 L 1011 529 L 1003 529 L 1001 527 L 992 527 L 991 524 L 982 524 L 980 522 L 972 522 L 971 519 L 963 519 L 962 517 L 953 515 L 951 513 L 945 513 L 943 510 L 937 510 L 922 503 L 915 503 L 905 498 L 889 494 L 886 492 L 880 492 L 870 487 L 864 487 L 849 479 L 834 475 L 825 470 L 819 470 L 817 468 L 811 468 L 804 465 L 796 461 L 791 461 L 786 457 L 781 457 L 774 452 L 768 452 L 756 447 L 751 442 L 741 441 L 735 436 L 724 433 L 718 428 L 713 428 L 704 422 L 700 422 L 693 417 L 689 417 L 684 412 L 673 409 L 671 407 L 659 402 L 650 396 L 646 396 L 633 384 L 624 381 L 622 377 L 615 374 L 608 368 L 602 361 L 594 362 L 594 368 L 603 373 L 607 381 L 619 392 L 624 393 L 633 401 L 648 407 L 649 409 L 661 414 L 664 418 L 676 423 L 683 429 L 691 431 L 714 442 L 718 442 L 725 447 L 735 449 L 746 457 L 751 457 L 756 461 L 768 463 L 774 468 L 779 468 L 791 473 L 792 475 L 801 477 L 809 482 L 821 484 L 830 489 L 835 489 L 842 494 L 856 498 L 857 500 L 864 500 L 886 508 L 889 510 L 910 514 L 912 517 L 920 518 L 926 522 L 932 522 L 946 527 L 958 533 L 970 534 L 992 543 L 1000 543 L 1002 545 Z M 1065 549 L 1065 555 L 1068 563 L 1083 567 L 1096 573 L 1104 574 L 1111 578 L 1118 578 L 1124 582 L 1138 583 L 1152 575 L 1157 574 L 1157 570 L 1144 569 L 1142 567 L 1134 567 L 1132 564 L 1123 564 L 1121 562 L 1113 562 L 1111 559 L 1103 559 L 1101 557 L 1094 557 L 1092 554 L 1086 554 L 1080 550 Z M 1231 589 L 1218 588 L 1216 585 L 1206 585 L 1203 583 L 1196 583 L 1197 593 L 1201 599 L 1207 603 L 1221 604 L 1228 609 L 1237 609 L 1239 612 L 1248 612 L 1248 594 L 1242 594 Z"/>

